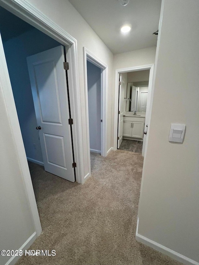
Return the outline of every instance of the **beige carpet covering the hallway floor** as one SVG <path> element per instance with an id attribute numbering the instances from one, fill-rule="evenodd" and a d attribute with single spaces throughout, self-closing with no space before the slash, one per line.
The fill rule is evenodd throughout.
<path id="1" fill-rule="evenodd" d="M 23 256 L 17 264 L 181 264 L 135 239 L 142 164 L 138 153 L 91 153 L 92 176 L 80 185 L 30 163 L 43 229 L 30 249 L 56 256 Z"/>

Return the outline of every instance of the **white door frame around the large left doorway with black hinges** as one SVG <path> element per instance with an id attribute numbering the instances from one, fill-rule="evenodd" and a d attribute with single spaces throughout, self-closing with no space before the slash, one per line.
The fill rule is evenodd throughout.
<path id="1" fill-rule="evenodd" d="M 49 35 L 64 46 L 67 46 L 67 62 L 69 62 L 70 70 L 68 71 L 68 83 L 71 103 L 71 113 L 73 118 L 73 144 L 76 167 L 76 181 L 84 182 L 84 162 L 83 162 L 83 142 L 82 142 L 82 126 L 81 126 L 81 107 L 80 107 L 80 88 L 79 88 L 79 72 L 77 58 L 77 41 L 71 35 L 54 24 L 44 14 L 39 12 L 29 3 L 19 0 L 0 0 L 0 6 L 20 17 L 27 23 L 31 24 L 38 30 Z M 26 159 L 25 148 L 21 136 L 21 129 L 16 112 L 16 106 L 12 93 L 10 77 L 7 69 L 4 49 L 0 38 L 0 89 L 2 89 L 4 100 L 7 108 L 10 126 L 18 154 L 18 163 L 21 168 L 21 177 L 25 184 L 27 198 L 32 212 L 35 231 L 39 236 L 41 233 L 41 224 L 39 220 L 38 209 L 35 200 L 35 194 L 30 177 L 30 171 Z"/>

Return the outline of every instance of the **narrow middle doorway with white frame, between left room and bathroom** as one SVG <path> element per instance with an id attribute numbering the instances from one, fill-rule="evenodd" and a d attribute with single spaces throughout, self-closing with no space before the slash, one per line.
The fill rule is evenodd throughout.
<path id="1" fill-rule="evenodd" d="M 108 66 L 85 47 L 83 54 L 89 168 L 87 176 L 90 176 L 90 152 L 99 153 L 103 157 L 107 156 Z"/>

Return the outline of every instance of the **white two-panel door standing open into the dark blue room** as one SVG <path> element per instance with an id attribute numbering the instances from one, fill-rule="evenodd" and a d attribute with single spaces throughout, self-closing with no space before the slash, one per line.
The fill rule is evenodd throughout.
<path id="1" fill-rule="evenodd" d="M 27 57 L 46 171 L 75 181 L 63 46 Z"/>

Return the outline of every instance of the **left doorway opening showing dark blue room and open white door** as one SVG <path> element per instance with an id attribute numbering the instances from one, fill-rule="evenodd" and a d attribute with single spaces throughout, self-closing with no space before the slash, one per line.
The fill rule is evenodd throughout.
<path id="1" fill-rule="evenodd" d="M 63 69 L 65 47 L 4 8 L 0 12 L 4 53 L 27 159 L 74 182 L 72 128 L 66 122 L 70 102 Z"/>

